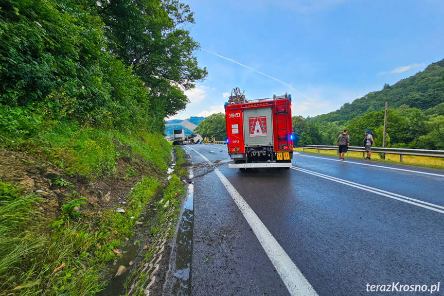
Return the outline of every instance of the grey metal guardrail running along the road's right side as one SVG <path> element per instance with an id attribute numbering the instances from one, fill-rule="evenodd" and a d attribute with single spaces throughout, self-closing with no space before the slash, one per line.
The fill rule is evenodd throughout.
<path id="1" fill-rule="evenodd" d="M 305 145 L 305 146 L 293 146 L 294 148 L 305 149 L 317 149 L 317 153 L 320 150 L 338 150 L 338 146 L 328 146 L 328 145 Z M 365 157 L 365 147 L 360 146 L 350 146 L 348 151 L 358 151 L 362 152 L 362 157 Z M 444 150 L 426 150 L 426 149 L 406 149 L 406 148 L 382 148 L 382 147 L 371 147 L 371 152 L 374 153 L 385 153 L 385 154 L 397 154 L 399 155 L 399 161 L 402 162 L 403 155 L 412 156 L 426 156 L 426 157 L 439 157 L 444 158 Z"/>

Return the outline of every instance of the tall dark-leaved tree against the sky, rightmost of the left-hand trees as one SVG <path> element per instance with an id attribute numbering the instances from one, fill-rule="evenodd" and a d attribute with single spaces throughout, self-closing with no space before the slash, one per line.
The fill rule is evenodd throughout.
<path id="1" fill-rule="evenodd" d="M 188 5 L 176 0 L 99 1 L 108 48 L 162 98 L 165 116 L 185 109 L 184 90 L 207 71 L 193 51 L 200 48 L 186 26 L 194 24 Z M 164 93 L 167 93 L 166 95 Z"/>

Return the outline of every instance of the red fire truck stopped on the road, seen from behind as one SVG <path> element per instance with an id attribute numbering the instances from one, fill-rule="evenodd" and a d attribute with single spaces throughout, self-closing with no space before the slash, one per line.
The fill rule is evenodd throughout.
<path id="1" fill-rule="evenodd" d="M 239 88 L 225 102 L 228 167 L 292 166 L 291 95 L 246 100 Z"/>

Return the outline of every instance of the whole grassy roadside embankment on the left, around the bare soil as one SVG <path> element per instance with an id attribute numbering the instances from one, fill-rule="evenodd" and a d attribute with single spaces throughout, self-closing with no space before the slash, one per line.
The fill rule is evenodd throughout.
<path id="1" fill-rule="evenodd" d="M 55 123 L 27 137 L 4 133 L 0 145 L 26 151 L 43 163 L 40 166 L 62 168 L 66 178 L 82 175 L 85 182 L 136 178 L 136 171 L 144 171 L 128 188 L 126 204 L 120 206 L 125 213 L 86 207 L 86 198 L 74 189 L 55 210 L 58 218 L 52 220 L 38 210 L 45 197 L 23 195 L 20 188 L 0 182 L 0 295 L 94 295 L 104 285 L 100 271 L 106 262 L 121 257 L 117 248 L 131 237 L 144 205 L 164 182 L 171 145 L 161 135 L 74 123 Z M 119 171 L 121 161 L 128 164 L 124 171 Z M 53 182 L 75 188 L 63 178 Z M 172 176 L 164 204 L 177 204 L 179 185 Z M 158 213 L 164 209 L 163 205 L 158 208 Z"/>

